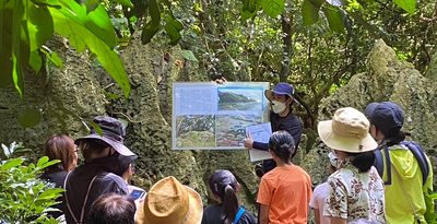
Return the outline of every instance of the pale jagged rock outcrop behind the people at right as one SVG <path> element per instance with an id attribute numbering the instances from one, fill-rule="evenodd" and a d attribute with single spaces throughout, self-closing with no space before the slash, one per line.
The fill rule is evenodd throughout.
<path id="1" fill-rule="evenodd" d="M 404 131 L 421 143 L 433 163 L 437 156 L 437 83 L 423 76 L 413 66 L 400 61 L 394 50 L 383 40 L 377 40 L 367 58 L 367 71 L 354 75 L 347 85 L 324 98 L 320 105 L 319 120 L 331 119 L 335 109 L 352 106 L 364 110 L 371 102 L 392 101 L 405 111 Z M 323 181 L 328 149 L 316 145 L 304 160 L 316 184 Z"/>

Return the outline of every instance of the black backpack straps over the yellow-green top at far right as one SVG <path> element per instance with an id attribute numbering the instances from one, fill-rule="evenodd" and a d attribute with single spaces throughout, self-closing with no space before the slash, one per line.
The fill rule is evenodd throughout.
<path id="1" fill-rule="evenodd" d="M 429 164 L 428 161 L 426 160 L 426 155 L 424 151 L 422 150 L 421 145 L 418 145 L 416 142 L 413 141 L 402 141 L 400 143 L 401 145 L 405 145 L 414 155 L 416 158 L 418 166 L 421 167 L 422 172 L 422 184 L 425 185 L 426 179 L 428 178 L 429 175 Z M 385 157 L 382 157 L 381 150 L 385 151 Z M 390 154 L 389 154 L 389 149 L 387 144 L 382 145 L 382 149 L 378 149 L 374 151 L 375 153 L 375 168 L 378 170 L 378 174 L 380 177 L 382 177 L 383 174 L 383 162 L 386 164 L 391 164 L 390 161 Z M 387 181 L 385 185 L 391 185 L 391 166 L 387 166 Z"/>

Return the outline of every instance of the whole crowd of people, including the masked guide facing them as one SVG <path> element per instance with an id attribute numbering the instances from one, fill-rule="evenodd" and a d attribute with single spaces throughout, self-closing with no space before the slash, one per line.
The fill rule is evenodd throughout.
<path id="1" fill-rule="evenodd" d="M 308 173 L 292 163 L 303 129 L 293 114 L 294 87 L 279 83 L 264 94 L 273 133 L 268 143 L 244 140 L 248 150 L 272 155 L 256 166 L 258 211 L 243 207 L 241 186 L 226 169 L 211 174 L 208 184 L 216 203 L 208 207 L 173 176 L 147 192 L 131 186 L 137 155 L 123 144 L 126 127 L 101 116 L 94 119 L 98 132 L 92 129 L 75 141 L 67 135 L 47 140 L 45 155 L 61 163 L 40 178 L 66 190 L 49 215 L 68 224 L 304 224 L 312 211 L 317 224 L 427 223 L 425 213 L 434 210 L 425 203 L 433 169 L 420 145 L 405 141 L 399 105 L 373 103 L 364 113 L 339 108 L 332 119 L 320 121 L 319 138 L 331 150 L 331 175 L 314 188 Z M 78 152 L 84 160 L 79 166 Z"/>

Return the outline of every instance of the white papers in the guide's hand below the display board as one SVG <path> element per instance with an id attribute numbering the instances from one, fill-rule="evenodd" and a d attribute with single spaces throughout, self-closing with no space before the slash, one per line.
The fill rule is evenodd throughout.
<path id="1" fill-rule="evenodd" d="M 269 143 L 270 135 L 272 135 L 272 126 L 270 122 L 264 122 L 257 126 L 249 126 L 246 128 L 246 135 L 251 135 L 253 141 Z M 269 151 L 249 150 L 250 162 L 263 161 L 272 158 Z"/>

